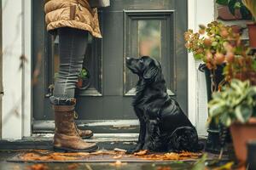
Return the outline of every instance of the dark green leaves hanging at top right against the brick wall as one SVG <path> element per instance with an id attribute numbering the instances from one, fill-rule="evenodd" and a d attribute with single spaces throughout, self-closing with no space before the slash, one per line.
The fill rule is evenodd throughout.
<path id="1" fill-rule="evenodd" d="M 242 19 L 251 20 L 252 18 L 250 11 L 246 7 L 246 5 L 242 2 L 242 0 L 216 0 L 216 3 L 227 6 L 230 10 L 230 13 L 233 14 L 234 16 L 236 15 L 236 10 L 239 10 L 241 13 Z"/>

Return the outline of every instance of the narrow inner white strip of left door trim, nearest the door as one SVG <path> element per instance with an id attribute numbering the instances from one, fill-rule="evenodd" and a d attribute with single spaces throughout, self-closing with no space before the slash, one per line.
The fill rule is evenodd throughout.
<path id="1" fill-rule="evenodd" d="M 22 92 L 22 136 L 31 136 L 32 133 L 32 1 L 23 0 L 23 54 L 26 63 L 23 68 Z"/>

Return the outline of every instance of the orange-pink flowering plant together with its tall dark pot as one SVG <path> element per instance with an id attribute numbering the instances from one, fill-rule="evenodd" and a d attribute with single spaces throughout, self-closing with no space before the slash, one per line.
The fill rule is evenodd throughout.
<path id="1" fill-rule="evenodd" d="M 204 64 L 199 69 L 205 72 L 207 81 L 207 97 L 212 99 L 212 92 L 218 91 L 224 84 L 223 69 L 228 61 L 232 61 L 241 46 L 239 33 L 235 33 L 231 26 L 224 26 L 221 22 L 212 21 L 207 26 L 200 26 L 199 31 L 192 30 L 184 33 L 185 47 L 193 53 L 195 59 Z M 230 49 L 230 47 L 232 49 Z M 219 127 L 212 123 L 209 126 L 207 151 L 219 152 L 222 148 L 219 138 Z"/>

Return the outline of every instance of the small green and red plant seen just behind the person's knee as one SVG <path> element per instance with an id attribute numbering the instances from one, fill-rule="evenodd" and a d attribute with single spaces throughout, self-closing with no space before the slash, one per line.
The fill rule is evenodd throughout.
<path id="1" fill-rule="evenodd" d="M 79 79 L 76 83 L 77 88 L 86 89 L 90 87 L 90 74 L 86 68 L 83 68 L 79 73 Z"/>

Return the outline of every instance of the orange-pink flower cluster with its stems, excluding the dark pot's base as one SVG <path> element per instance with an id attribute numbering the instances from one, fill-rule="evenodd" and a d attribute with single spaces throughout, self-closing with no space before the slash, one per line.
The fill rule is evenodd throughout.
<path id="1" fill-rule="evenodd" d="M 189 52 L 193 53 L 195 59 L 201 59 L 205 65 L 201 65 L 200 69 L 210 71 L 207 79 L 211 79 L 211 91 L 208 99 L 211 99 L 212 92 L 218 91 L 217 79 L 222 77 L 222 69 L 225 63 L 234 59 L 238 50 L 241 48 L 240 35 L 233 31 L 231 26 L 224 26 L 223 23 L 212 21 L 207 26 L 200 26 L 198 32 L 192 30 L 184 33 L 185 47 Z M 232 48 L 230 50 L 230 47 Z M 230 53 L 229 53 L 230 52 Z M 217 77 L 216 77 L 217 75 Z M 219 78 L 222 77 L 222 78 Z"/>

